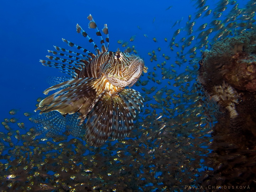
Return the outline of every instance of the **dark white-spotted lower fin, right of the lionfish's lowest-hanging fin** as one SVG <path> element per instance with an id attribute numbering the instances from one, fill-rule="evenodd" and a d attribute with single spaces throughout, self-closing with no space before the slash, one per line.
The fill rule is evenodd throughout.
<path id="1" fill-rule="evenodd" d="M 122 98 L 118 95 L 112 95 L 112 139 L 125 138 L 133 128 L 133 119 L 129 108 Z"/>

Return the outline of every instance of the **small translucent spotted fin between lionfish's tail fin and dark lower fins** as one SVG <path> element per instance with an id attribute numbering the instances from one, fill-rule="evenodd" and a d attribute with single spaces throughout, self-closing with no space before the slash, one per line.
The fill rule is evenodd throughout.
<path id="1" fill-rule="evenodd" d="M 81 132 L 81 129 L 82 129 L 82 126 L 79 126 L 79 113 L 76 112 L 74 114 L 68 114 L 66 116 L 66 130 L 71 134 L 73 135 L 73 137 L 78 137 L 80 132 Z"/>

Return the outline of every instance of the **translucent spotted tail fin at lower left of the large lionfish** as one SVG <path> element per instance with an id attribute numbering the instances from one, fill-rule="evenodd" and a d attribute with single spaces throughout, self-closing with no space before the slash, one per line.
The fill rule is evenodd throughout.
<path id="1" fill-rule="evenodd" d="M 62 133 L 66 126 L 66 118 L 57 111 L 50 111 L 33 117 L 33 123 L 36 124 L 36 135 L 45 134 L 47 137 L 53 137 Z"/>

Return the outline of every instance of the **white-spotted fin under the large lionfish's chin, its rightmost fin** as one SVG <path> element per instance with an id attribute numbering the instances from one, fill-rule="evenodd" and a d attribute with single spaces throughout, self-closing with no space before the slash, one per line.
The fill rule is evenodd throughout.
<path id="1" fill-rule="evenodd" d="M 127 107 L 129 108 L 130 113 L 133 118 L 136 117 L 136 111 L 140 112 L 140 106 L 143 107 L 144 98 L 140 93 L 134 89 L 124 89 L 119 92 L 121 98 L 126 102 Z"/>

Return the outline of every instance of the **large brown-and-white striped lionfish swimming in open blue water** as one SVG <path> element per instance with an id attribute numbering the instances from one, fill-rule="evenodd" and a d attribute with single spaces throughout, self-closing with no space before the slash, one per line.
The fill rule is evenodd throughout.
<path id="1" fill-rule="evenodd" d="M 48 50 L 54 56 L 46 56 L 40 60 L 44 66 L 61 69 L 61 72 L 71 75 L 55 78 L 59 84 L 46 89 L 43 93 L 56 90 L 54 94 L 44 98 L 35 110 L 41 110 L 35 119 L 37 135 L 46 133 L 53 137 L 66 130 L 77 137 L 81 129 L 85 129 L 87 143 L 98 147 L 106 142 L 108 137 L 121 139 L 133 128 L 133 118 L 136 110 L 143 107 L 143 97 L 132 87 L 140 78 L 142 71 L 147 72 L 142 58 L 134 54 L 108 51 L 109 38 L 107 24 L 102 29 L 106 35 L 107 47 L 101 32 L 91 15 L 87 17 L 89 28 L 96 30 L 100 37 L 101 50 L 88 34 L 77 24 L 76 31 L 94 46 L 96 55 L 81 46 L 62 39 L 76 51 L 54 46 L 57 51 Z M 82 53 L 80 53 L 82 52 Z M 59 57 L 57 57 L 59 56 Z M 85 123 L 85 119 L 87 121 Z"/>

